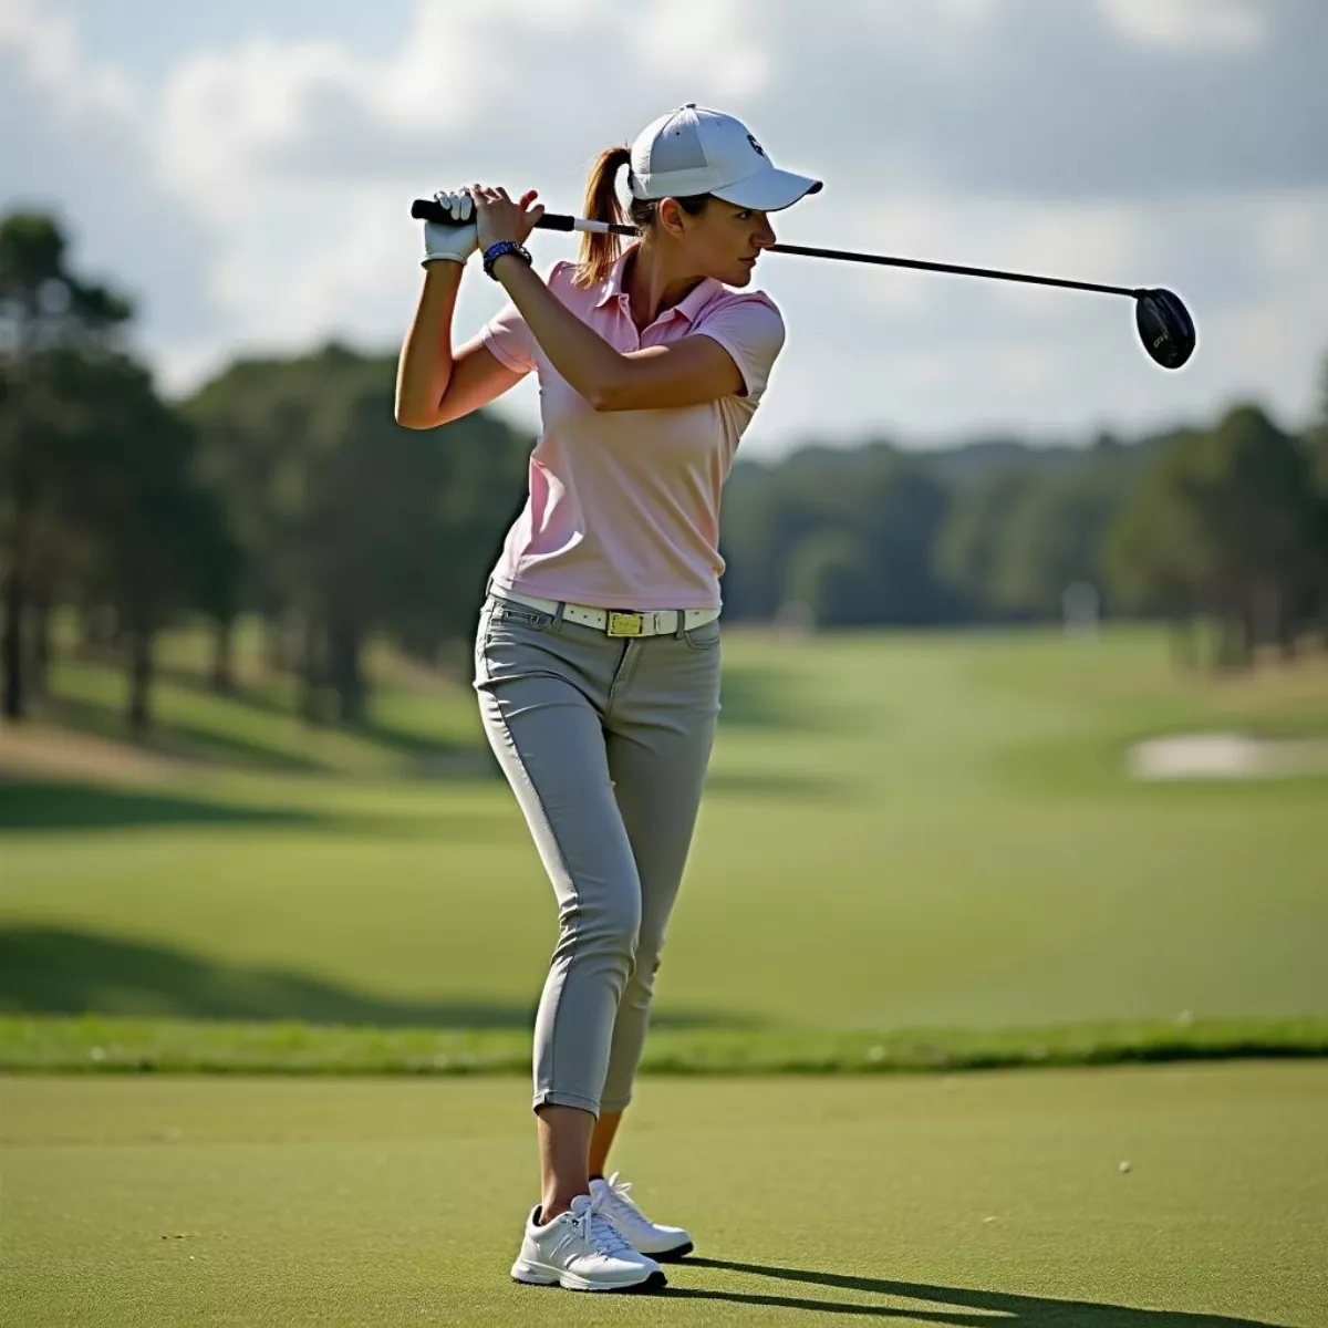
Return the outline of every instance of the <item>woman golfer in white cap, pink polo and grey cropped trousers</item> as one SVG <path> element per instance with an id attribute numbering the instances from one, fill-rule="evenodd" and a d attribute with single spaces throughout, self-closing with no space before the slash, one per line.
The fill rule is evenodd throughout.
<path id="1" fill-rule="evenodd" d="M 603 151 L 584 235 L 547 279 L 522 247 L 543 212 L 471 185 L 440 193 L 401 352 L 397 420 L 429 429 L 534 372 L 530 494 L 493 571 L 474 685 L 489 741 L 558 899 L 535 1020 L 540 1202 L 511 1275 L 579 1291 L 664 1284 L 692 1250 L 656 1226 L 610 1145 L 632 1096 L 669 911 L 692 841 L 720 696 L 720 490 L 785 331 L 750 286 L 766 214 L 821 183 L 777 170 L 746 127 L 687 105 Z M 510 301 L 459 351 L 452 316 L 479 251 Z"/>

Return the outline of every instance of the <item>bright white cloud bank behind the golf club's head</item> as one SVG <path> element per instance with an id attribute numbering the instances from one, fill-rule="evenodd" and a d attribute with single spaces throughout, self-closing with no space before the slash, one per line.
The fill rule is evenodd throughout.
<path id="1" fill-rule="evenodd" d="M 1145 429 L 1246 396 L 1295 424 L 1315 406 L 1328 355 L 1325 236 L 1328 189 L 1161 210 L 867 210 L 842 247 L 1167 286 L 1194 315 L 1199 349 L 1178 373 L 1159 369 L 1139 347 L 1133 301 L 1117 296 L 772 256 L 764 282 L 790 312 L 795 348 L 778 390 L 803 432 L 818 412 L 861 432 L 847 420 L 867 398 L 882 429 L 915 441 L 983 420 L 1073 436 Z M 846 382 L 861 386 L 849 396 Z"/>

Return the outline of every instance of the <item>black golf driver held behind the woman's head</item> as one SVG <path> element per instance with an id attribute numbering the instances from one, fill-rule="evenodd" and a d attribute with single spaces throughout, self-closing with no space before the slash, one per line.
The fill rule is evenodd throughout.
<path id="1" fill-rule="evenodd" d="M 450 214 L 437 202 L 417 198 L 410 205 L 410 215 L 418 220 L 448 224 Z M 611 222 L 591 222 L 583 216 L 546 212 L 537 230 L 591 231 L 596 234 L 636 235 L 633 226 Z M 883 267 L 910 267 L 926 272 L 950 272 L 956 276 L 985 276 L 1000 282 L 1027 282 L 1032 286 L 1060 286 L 1070 291 L 1094 291 L 1098 295 L 1126 295 L 1135 301 L 1134 320 L 1143 349 L 1163 369 L 1179 369 L 1194 353 L 1195 331 L 1190 311 L 1173 291 L 1131 290 L 1125 286 L 1098 286 L 1094 282 L 1068 282 L 1058 276 L 1031 276 L 1028 272 L 1001 272 L 987 267 L 960 267 L 954 263 L 930 263 L 914 258 L 884 258 L 879 254 L 854 254 L 847 250 L 809 248 L 803 244 L 772 244 L 772 254 L 799 254 L 803 258 L 833 258 L 847 263 L 878 263 Z"/>

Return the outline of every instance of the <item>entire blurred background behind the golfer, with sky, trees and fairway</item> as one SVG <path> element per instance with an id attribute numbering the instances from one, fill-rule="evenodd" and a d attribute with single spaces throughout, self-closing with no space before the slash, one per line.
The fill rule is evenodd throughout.
<path id="1" fill-rule="evenodd" d="M 396 426 L 409 206 L 578 211 L 685 101 L 826 181 L 782 240 L 1165 286 L 1199 341 L 762 264 L 657 1045 L 1321 1041 L 1325 44 L 1315 0 L 0 0 L 5 1064 L 216 1021 L 523 1064 L 554 900 L 469 684 L 538 386 Z"/>

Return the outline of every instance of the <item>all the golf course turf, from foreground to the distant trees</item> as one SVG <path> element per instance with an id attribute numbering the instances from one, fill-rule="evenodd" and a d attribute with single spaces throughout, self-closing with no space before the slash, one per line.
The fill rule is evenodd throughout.
<path id="1" fill-rule="evenodd" d="M 1328 778 L 1127 764 L 1323 660 L 732 631 L 612 1159 L 697 1254 L 603 1300 L 507 1278 L 555 915 L 473 696 L 309 730 L 252 644 L 0 744 L 0 1323 L 1328 1325 Z"/>

